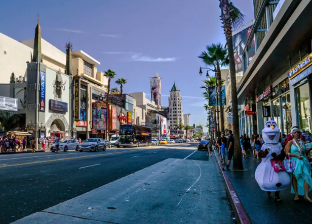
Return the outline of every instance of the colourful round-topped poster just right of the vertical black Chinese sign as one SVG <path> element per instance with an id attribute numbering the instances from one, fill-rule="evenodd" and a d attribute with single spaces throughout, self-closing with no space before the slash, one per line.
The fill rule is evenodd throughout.
<path id="1" fill-rule="evenodd" d="M 95 130 L 106 130 L 106 107 L 103 100 L 92 103 L 92 123 Z"/>

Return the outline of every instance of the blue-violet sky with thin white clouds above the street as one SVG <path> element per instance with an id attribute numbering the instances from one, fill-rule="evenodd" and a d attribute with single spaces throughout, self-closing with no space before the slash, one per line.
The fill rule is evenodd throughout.
<path id="1" fill-rule="evenodd" d="M 252 0 L 232 0 L 254 19 Z M 37 14 L 42 38 L 65 52 L 83 50 L 101 63 L 98 71 L 112 69 L 125 78 L 124 93 L 145 92 L 149 77 L 162 78 L 162 105 L 176 82 L 189 123 L 205 125 L 198 55 L 207 44 L 225 43 L 218 0 L 54 0 L 1 1 L 0 32 L 16 40 L 34 38 Z M 118 87 L 112 80 L 112 87 Z M 207 131 L 205 128 L 204 131 Z"/>

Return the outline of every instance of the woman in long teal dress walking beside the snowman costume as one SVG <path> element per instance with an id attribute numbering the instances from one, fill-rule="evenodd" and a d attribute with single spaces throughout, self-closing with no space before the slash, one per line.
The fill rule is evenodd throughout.
<path id="1" fill-rule="evenodd" d="M 291 193 L 295 194 L 295 201 L 299 200 L 299 195 L 304 195 L 304 200 L 312 202 L 308 195 L 312 189 L 311 166 L 305 154 L 305 146 L 301 141 L 301 131 L 294 128 L 291 134 L 294 139 L 289 141 L 285 148 L 286 156 L 289 155 L 296 161 L 294 173 L 291 174 Z"/>

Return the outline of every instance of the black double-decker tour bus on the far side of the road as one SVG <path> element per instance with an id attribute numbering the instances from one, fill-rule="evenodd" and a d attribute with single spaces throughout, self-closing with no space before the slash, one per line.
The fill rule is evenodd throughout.
<path id="1" fill-rule="evenodd" d="M 120 125 L 119 145 L 126 146 L 149 146 L 151 144 L 151 130 L 141 125 Z"/>

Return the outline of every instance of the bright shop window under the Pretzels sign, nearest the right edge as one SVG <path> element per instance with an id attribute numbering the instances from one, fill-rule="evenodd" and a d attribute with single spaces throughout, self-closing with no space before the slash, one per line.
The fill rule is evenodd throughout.
<path id="1" fill-rule="evenodd" d="M 306 132 L 311 132 L 311 108 L 309 98 L 309 86 L 304 84 L 297 88 L 297 102 L 298 102 L 298 120 L 300 129 Z"/>

